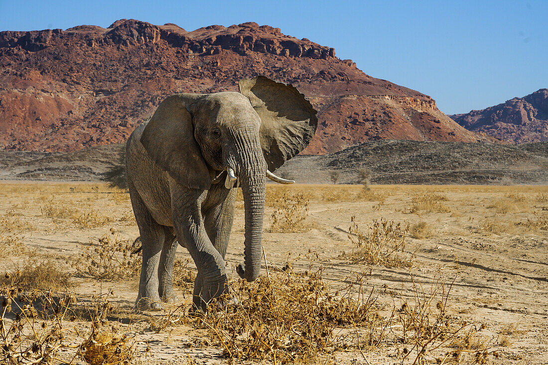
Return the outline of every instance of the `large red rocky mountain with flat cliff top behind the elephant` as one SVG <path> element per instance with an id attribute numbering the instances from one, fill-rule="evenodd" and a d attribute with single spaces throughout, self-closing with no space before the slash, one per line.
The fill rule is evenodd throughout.
<path id="1" fill-rule="evenodd" d="M 374 56 L 374 55 L 372 55 Z M 255 75 L 292 83 L 318 110 L 309 154 L 376 139 L 483 141 L 430 96 L 376 79 L 333 48 L 253 22 L 186 31 L 118 20 L 108 28 L 0 32 L 0 148 L 74 151 L 124 141 L 176 92 L 237 90 Z"/>

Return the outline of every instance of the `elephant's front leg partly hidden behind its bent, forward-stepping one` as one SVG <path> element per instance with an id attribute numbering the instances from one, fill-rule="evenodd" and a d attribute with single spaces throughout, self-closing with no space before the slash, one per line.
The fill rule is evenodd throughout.
<path id="1" fill-rule="evenodd" d="M 213 247 L 225 258 L 229 244 L 232 222 L 234 220 L 234 205 L 238 189 L 226 189 L 223 184 L 213 185 L 202 205 L 204 226 Z M 196 276 L 192 293 L 193 310 L 203 308 L 202 277 Z"/>

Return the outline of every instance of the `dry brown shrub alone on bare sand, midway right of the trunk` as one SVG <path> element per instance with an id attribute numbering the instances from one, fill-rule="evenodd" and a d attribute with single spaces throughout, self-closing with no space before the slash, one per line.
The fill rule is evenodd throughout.
<path id="1" fill-rule="evenodd" d="M 406 236 L 409 225 L 381 218 L 368 226 L 367 232 L 359 230 L 356 216 L 350 219 L 348 238 L 356 245 L 357 251 L 346 257 L 353 263 L 383 265 L 386 267 L 410 267 L 415 260 L 415 254 L 406 253 Z"/>

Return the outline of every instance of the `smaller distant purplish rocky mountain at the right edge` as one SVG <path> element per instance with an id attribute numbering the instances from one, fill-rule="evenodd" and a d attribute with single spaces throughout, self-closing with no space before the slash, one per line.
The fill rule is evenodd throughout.
<path id="1" fill-rule="evenodd" d="M 451 117 L 466 129 L 513 143 L 548 141 L 548 89 Z"/>

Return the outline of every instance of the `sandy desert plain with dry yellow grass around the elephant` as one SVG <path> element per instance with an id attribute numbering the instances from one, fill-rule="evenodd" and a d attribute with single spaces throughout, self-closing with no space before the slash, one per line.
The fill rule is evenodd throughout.
<path id="1" fill-rule="evenodd" d="M 362 243 L 375 239 L 375 221 L 381 231 L 383 221 L 388 226 L 393 221 L 398 233 L 393 237 L 403 242 L 392 253 L 392 264 L 372 263 L 370 252 L 355 243 L 359 241 L 356 227 Z M 226 256 L 227 272 L 234 281 L 237 274 L 232 269 L 243 261 L 243 232 L 240 196 Z M 187 316 L 192 284 L 178 280 L 177 275 L 192 277 L 196 269 L 183 247 L 178 248 L 178 258 L 184 267 L 174 278 L 180 284 L 176 288 L 181 303 L 165 305 L 162 311 L 134 310 L 138 258 L 127 252 L 124 258 L 122 251 L 138 236 L 128 193 L 106 184 L 0 183 L 0 270 L 6 273 L 5 287 L 21 287 L 23 293 L 37 289 L 73 293 L 74 307 L 93 307 L 107 298 L 111 308 L 100 318 L 105 322 L 102 328 L 123 333 L 121 349 L 132 352 L 129 362 L 287 362 L 268 353 L 231 359 L 207 324 Z M 103 246 L 101 237 L 106 237 Z M 381 246 L 390 245 L 380 238 Z M 121 248 L 110 260 L 100 258 L 105 242 L 107 246 L 119 243 Z M 335 326 L 330 337 L 345 339 L 325 345 L 328 350 L 320 349 L 317 356 L 301 362 L 548 363 L 546 185 L 372 185 L 366 190 L 360 185 L 267 184 L 263 247 L 264 278 L 306 277 L 321 267 L 322 280 L 333 291 L 343 288 L 348 298 L 358 301 L 359 293 L 362 301 L 366 293 L 370 310 L 376 313 L 372 318 L 378 318 L 366 326 Z M 101 259 L 111 265 L 112 275 L 89 270 L 93 260 Z M 421 315 L 435 321 L 443 311 L 443 321 L 458 332 L 447 338 L 448 329 L 423 343 L 426 349 L 421 357 L 413 326 L 406 325 L 406 313 L 417 309 L 417 302 Z M 68 301 L 64 303 L 68 306 Z M 16 304 L 11 306 L 12 312 L 7 312 L 3 304 L 0 341 L 4 344 L 0 345 L 13 341 L 4 329 L 18 321 Z M 25 318 L 37 326 L 44 323 L 42 328 L 52 323 L 41 315 Z M 93 318 L 64 318 L 53 363 L 85 363 L 76 353 L 89 338 Z M 402 334 L 406 326 L 411 334 Z M 32 338 L 32 333 L 27 335 Z"/>

